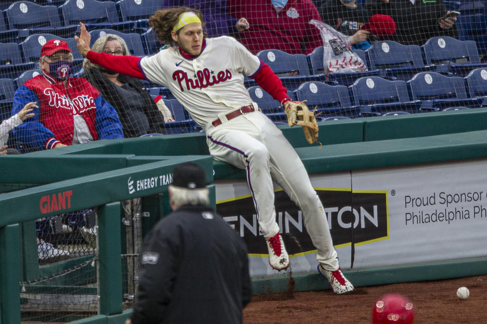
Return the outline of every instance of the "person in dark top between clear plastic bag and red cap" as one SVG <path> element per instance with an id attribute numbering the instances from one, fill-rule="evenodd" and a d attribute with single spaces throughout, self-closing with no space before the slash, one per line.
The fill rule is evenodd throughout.
<path id="1" fill-rule="evenodd" d="M 324 23 L 350 36 L 350 44 L 355 48 L 370 47 L 367 42 L 370 32 L 361 30 L 361 27 L 372 15 L 367 9 L 358 5 L 356 0 L 328 0 L 318 7 L 318 12 Z"/>

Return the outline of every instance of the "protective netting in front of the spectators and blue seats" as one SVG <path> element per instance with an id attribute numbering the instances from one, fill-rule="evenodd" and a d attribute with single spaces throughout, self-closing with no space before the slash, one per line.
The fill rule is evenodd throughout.
<path id="1" fill-rule="evenodd" d="M 487 92 L 485 5 L 471 0 L 3 2 L 0 118 L 29 102 L 39 106 L 21 113 L 22 125 L 20 119 L 9 120 L 2 132 L 16 128 L 3 141 L 9 153 L 24 153 L 96 139 L 201 131 L 163 85 L 84 63 L 76 49 L 74 35 L 82 21 L 97 52 L 153 55 L 164 44 L 147 20 L 157 9 L 176 6 L 199 9 L 208 36 L 238 39 L 281 77 L 292 99 L 307 99 L 321 110 L 321 119 L 481 107 Z M 113 37 L 95 43 L 107 34 Z M 51 39 L 65 41 L 72 55 L 45 51 L 50 55 L 40 60 Z M 61 64 L 64 59 L 72 61 L 71 71 Z M 58 69 L 89 82 L 71 78 L 63 85 L 45 77 L 46 69 L 51 76 Z M 279 102 L 252 78 L 245 85 L 272 120 L 284 121 Z"/>

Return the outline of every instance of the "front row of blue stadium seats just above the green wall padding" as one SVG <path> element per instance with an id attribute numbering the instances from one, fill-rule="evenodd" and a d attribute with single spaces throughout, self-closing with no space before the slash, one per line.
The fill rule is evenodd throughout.
<path id="1" fill-rule="evenodd" d="M 274 123 L 286 123 L 277 100 L 258 86 L 248 91 Z M 487 107 L 487 69 L 475 69 L 465 78 L 421 72 L 407 82 L 361 77 L 349 87 L 308 81 L 288 95 L 316 108 L 319 120 Z M 164 103 L 176 120 L 166 124 L 169 134 L 201 131 L 178 100 L 164 99 Z"/>

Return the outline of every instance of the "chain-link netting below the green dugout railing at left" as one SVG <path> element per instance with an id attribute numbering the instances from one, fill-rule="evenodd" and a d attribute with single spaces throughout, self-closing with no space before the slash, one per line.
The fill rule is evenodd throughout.
<path id="1" fill-rule="evenodd" d="M 142 247 L 140 198 L 123 202 L 123 309 L 133 307 Z M 37 251 L 22 249 L 22 322 L 69 322 L 99 312 L 96 208 L 38 219 Z M 28 228 L 31 224 L 24 224 Z M 32 236 L 33 237 L 33 236 Z M 37 253 L 36 253 L 37 252 Z M 36 253 L 35 255 L 31 255 Z"/>

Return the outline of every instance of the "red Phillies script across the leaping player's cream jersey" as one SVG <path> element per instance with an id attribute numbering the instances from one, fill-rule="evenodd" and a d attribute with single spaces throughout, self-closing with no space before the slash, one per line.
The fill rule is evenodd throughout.
<path id="1" fill-rule="evenodd" d="M 204 68 L 202 70 L 196 71 L 196 73 L 193 75 L 193 78 L 189 78 L 188 73 L 182 70 L 177 70 L 172 73 L 172 79 L 176 80 L 179 83 L 179 88 L 181 89 L 181 92 L 184 92 L 184 86 L 186 86 L 186 89 L 191 90 L 206 88 L 219 84 L 220 82 L 231 79 L 232 73 L 228 69 L 226 69 L 225 71 L 219 71 L 215 74 L 213 70 L 210 71 L 207 68 Z"/>

